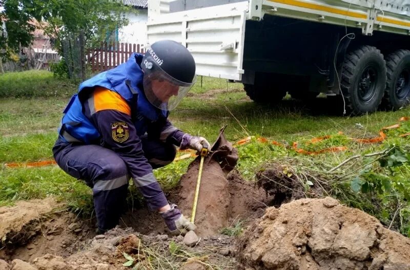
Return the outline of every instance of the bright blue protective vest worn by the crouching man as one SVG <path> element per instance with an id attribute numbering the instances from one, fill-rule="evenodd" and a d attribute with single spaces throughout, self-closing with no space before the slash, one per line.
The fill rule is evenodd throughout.
<path id="1" fill-rule="evenodd" d="M 144 73 L 138 63 L 142 54 L 133 53 L 130 59 L 118 67 L 99 73 L 80 84 L 64 110 L 59 136 L 67 142 L 98 143 L 100 134 L 84 114 L 83 104 L 96 86 L 107 88 L 121 95 L 130 105 L 133 122 L 140 136 L 147 131 L 147 124 L 159 118 L 167 118 L 168 111 L 155 108 L 142 92 Z M 137 63 L 138 62 L 138 63 Z"/>

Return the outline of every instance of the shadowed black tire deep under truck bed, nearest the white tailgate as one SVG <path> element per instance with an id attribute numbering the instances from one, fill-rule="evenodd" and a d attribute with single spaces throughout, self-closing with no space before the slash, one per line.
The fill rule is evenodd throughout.
<path id="1" fill-rule="evenodd" d="M 286 89 L 278 82 L 279 76 L 271 73 L 255 73 L 255 83 L 243 84 L 248 97 L 257 103 L 277 103 L 286 94 Z"/>

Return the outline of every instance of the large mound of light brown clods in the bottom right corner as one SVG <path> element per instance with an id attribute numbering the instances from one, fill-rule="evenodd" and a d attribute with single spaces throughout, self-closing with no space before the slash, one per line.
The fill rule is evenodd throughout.
<path id="1" fill-rule="evenodd" d="M 410 239 L 332 198 L 268 208 L 238 244 L 241 269 L 410 269 Z"/>

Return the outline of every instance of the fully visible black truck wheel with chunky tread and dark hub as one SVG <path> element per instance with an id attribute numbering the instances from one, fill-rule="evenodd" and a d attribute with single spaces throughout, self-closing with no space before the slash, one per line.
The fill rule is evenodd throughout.
<path id="1" fill-rule="evenodd" d="M 383 99 L 385 85 L 386 65 L 380 50 L 363 45 L 345 55 L 340 86 L 347 112 L 376 111 Z"/>

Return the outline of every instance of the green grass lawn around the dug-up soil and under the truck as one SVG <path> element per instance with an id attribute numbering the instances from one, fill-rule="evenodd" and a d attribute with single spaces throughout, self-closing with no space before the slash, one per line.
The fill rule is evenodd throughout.
<path id="1" fill-rule="evenodd" d="M 4 165 L 52 159 L 51 147 L 57 137 L 61 111 L 76 87 L 47 72 L 0 75 L 0 205 L 53 195 L 66 201 L 74 211 L 91 213 L 91 190 L 58 167 L 8 168 Z M 51 93 L 53 89 L 61 91 L 54 95 L 41 94 Z M 382 127 L 410 115 L 410 108 L 361 117 L 343 117 L 340 111 L 342 107 L 326 99 L 318 99 L 310 106 L 293 100 L 285 100 L 277 106 L 258 105 L 247 97 L 240 84 L 203 78 L 202 87 L 199 79 L 171 112 L 170 120 L 183 131 L 206 137 L 211 143 L 223 124 L 228 124 L 226 137 L 232 142 L 254 136 L 248 144 L 238 146 L 237 168 L 245 179 L 252 181 L 257 171 L 273 162 L 289 164 L 295 173 L 312 176 L 301 181 L 329 181 L 330 195 L 366 210 L 385 224 L 392 221 L 399 209 L 393 227 L 405 235 L 410 234 L 410 205 L 405 200 L 410 194 L 410 137 L 399 136 L 410 132 L 410 121 L 403 122 L 399 129 L 386 131 L 388 138 L 383 143 L 362 144 L 349 139 L 379 136 Z M 312 143 L 313 138 L 325 135 L 332 137 Z M 256 140 L 259 137 L 289 147 L 263 143 Z M 310 151 L 336 146 L 347 149 L 303 155 L 292 149 L 295 141 L 298 147 Z M 391 149 L 385 156 L 389 162 L 386 166 L 378 162 L 379 156 L 365 157 L 330 172 L 349 157 L 385 149 Z M 191 160 L 174 162 L 155 171 L 165 190 L 177 184 Z M 391 182 L 389 186 L 383 176 Z"/>

